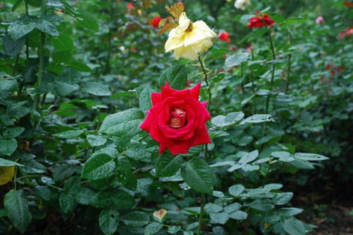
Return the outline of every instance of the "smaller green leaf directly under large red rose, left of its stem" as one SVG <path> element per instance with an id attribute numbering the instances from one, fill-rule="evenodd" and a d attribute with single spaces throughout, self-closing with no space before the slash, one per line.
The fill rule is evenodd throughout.
<path id="1" fill-rule="evenodd" d="M 173 156 L 168 152 L 164 152 L 158 157 L 156 162 L 156 176 L 173 176 L 180 169 L 183 162 L 184 160 L 181 156 Z"/>

